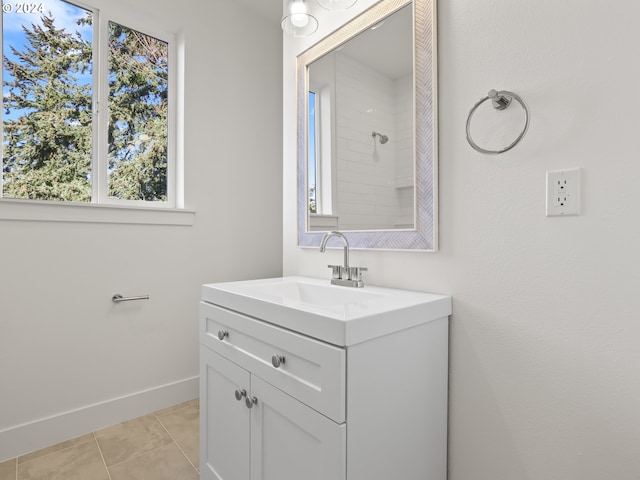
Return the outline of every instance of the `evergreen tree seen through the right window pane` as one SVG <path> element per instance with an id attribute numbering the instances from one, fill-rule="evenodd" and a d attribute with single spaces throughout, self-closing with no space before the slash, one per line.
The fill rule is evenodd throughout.
<path id="1" fill-rule="evenodd" d="M 167 44 L 109 23 L 109 196 L 167 198 Z"/>

